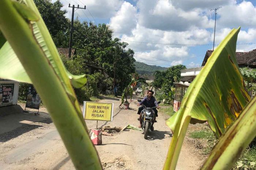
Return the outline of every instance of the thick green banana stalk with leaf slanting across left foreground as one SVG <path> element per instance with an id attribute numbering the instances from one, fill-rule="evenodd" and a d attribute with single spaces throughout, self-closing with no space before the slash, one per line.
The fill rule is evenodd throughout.
<path id="1" fill-rule="evenodd" d="M 76 169 L 102 169 L 73 87 L 86 76 L 71 75 L 33 0 L 2 0 L 0 78 L 33 83 Z"/>

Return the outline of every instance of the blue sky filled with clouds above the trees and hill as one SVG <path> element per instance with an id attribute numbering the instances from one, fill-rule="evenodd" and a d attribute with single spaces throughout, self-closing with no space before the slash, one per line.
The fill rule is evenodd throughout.
<path id="1" fill-rule="evenodd" d="M 71 18 L 68 3 L 85 4 L 87 9 L 77 10 L 75 17 L 108 24 L 114 37 L 127 42 L 128 48 L 135 51 L 137 61 L 150 65 L 201 66 L 206 51 L 212 50 L 215 14 L 210 9 L 217 7 L 222 8 L 217 11 L 215 44 L 232 28 L 241 26 L 237 51 L 256 49 L 256 0 L 60 1 L 68 11 L 68 18 Z"/>

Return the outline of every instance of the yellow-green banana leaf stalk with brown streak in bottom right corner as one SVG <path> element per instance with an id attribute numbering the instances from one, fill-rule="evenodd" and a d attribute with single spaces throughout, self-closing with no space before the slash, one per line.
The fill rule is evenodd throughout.
<path id="1" fill-rule="evenodd" d="M 201 169 L 231 169 L 255 137 L 256 98 L 253 98 L 234 124 L 221 136 Z"/>

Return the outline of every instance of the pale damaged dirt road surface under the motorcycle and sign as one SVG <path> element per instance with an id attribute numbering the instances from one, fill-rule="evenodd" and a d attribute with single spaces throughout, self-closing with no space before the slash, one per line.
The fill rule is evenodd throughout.
<path id="1" fill-rule="evenodd" d="M 118 108 L 121 99 L 104 96 L 99 102 L 114 103 L 112 122 L 99 122 L 103 126 L 138 127 L 139 121 L 136 100 L 131 102 L 130 110 Z M 22 108 L 25 104 L 20 103 Z M 82 106 L 81 106 L 82 108 Z M 40 108 L 40 115 L 34 111 L 0 117 L 0 169 L 75 169 L 61 138 L 52 123 L 46 108 Z M 102 135 L 102 145 L 95 146 L 106 170 L 160 170 L 165 162 L 167 150 L 172 139 L 170 129 L 165 125 L 168 118 L 158 113 L 155 131 L 148 140 L 142 131 L 127 130 Z M 96 121 L 87 121 L 88 129 L 96 128 Z M 182 146 L 177 170 L 197 169 L 201 161 L 188 144 Z M 86 160 L 85 160 L 86 161 Z"/>

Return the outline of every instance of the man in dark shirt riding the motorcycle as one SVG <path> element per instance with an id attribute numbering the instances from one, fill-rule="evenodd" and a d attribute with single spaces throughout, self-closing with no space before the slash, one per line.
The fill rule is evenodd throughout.
<path id="1" fill-rule="evenodd" d="M 155 100 L 155 97 L 153 96 L 153 94 L 154 94 L 154 91 L 148 90 L 147 91 L 147 96 L 144 97 L 144 99 L 142 99 L 141 102 L 139 102 L 137 104 L 137 106 L 140 106 L 140 105 L 144 104 L 146 107 L 157 107 L 157 108 L 160 108 L 158 106 L 157 100 Z M 143 106 L 140 106 L 139 109 L 138 109 L 138 113 L 137 113 L 137 114 L 140 115 L 140 117 L 139 117 L 139 120 L 140 120 L 139 128 L 141 128 L 141 126 L 142 126 L 142 117 L 141 117 L 142 116 L 142 110 L 143 110 Z M 154 130 L 153 124 L 156 122 L 155 119 L 158 116 L 157 109 L 153 108 L 153 110 L 155 112 L 155 118 L 153 120 L 153 123 L 152 123 L 152 126 L 151 126 L 151 130 Z"/>

